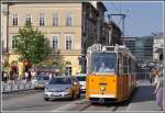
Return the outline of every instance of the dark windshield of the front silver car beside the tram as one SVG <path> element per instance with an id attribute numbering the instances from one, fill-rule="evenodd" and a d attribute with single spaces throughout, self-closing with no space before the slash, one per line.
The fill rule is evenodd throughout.
<path id="1" fill-rule="evenodd" d="M 72 78 L 54 78 L 50 84 L 72 84 Z"/>

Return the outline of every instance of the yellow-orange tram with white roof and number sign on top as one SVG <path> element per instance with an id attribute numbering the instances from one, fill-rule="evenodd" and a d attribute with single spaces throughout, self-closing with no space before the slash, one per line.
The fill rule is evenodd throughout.
<path id="1" fill-rule="evenodd" d="M 91 102 L 122 102 L 134 90 L 135 58 L 125 46 L 95 44 L 87 50 L 86 98 Z"/>

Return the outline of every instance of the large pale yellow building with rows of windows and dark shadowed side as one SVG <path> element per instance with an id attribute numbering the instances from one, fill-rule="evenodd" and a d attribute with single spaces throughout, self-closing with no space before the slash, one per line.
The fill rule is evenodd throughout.
<path id="1" fill-rule="evenodd" d="M 106 11 L 102 2 L 3 2 L 2 5 L 3 60 L 8 60 L 10 66 L 15 65 L 20 75 L 23 64 L 13 53 L 16 43 L 13 36 L 26 21 L 44 33 L 53 49 L 61 50 L 68 75 L 81 71 L 79 57 L 88 46 L 100 41 L 100 23 L 105 21 Z"/>

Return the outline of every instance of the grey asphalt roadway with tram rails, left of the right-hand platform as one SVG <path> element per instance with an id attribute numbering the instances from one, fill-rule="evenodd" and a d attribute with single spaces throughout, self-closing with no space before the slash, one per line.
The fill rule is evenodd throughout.
<path id="1" fill-rule="evenodd" d="M 69 100 L 53 100 L 44 101 L 43 92 L 35 92 L 25 94 L 24 97 L 14 97 L 10 99 L 3 99 L 3 111 L 124 111 L 127 104 L 91 104 L 85 99 L 85 94 L 81 94 L 80 99 L 75 101 Z"/>

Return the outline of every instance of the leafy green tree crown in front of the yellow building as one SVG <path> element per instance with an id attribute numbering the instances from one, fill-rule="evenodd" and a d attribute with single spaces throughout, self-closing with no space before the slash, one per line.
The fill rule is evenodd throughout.
<path id="1" fill-rule="evenodd" d="M 20 54 L 19 60 L 28 60 L 31 65 L 36 65 L 43 61 L 51 54 L 48 39 L 31 26 L 26 24 L 23 29 L 19 30 L 16 36 L 15 53 Z"/>

